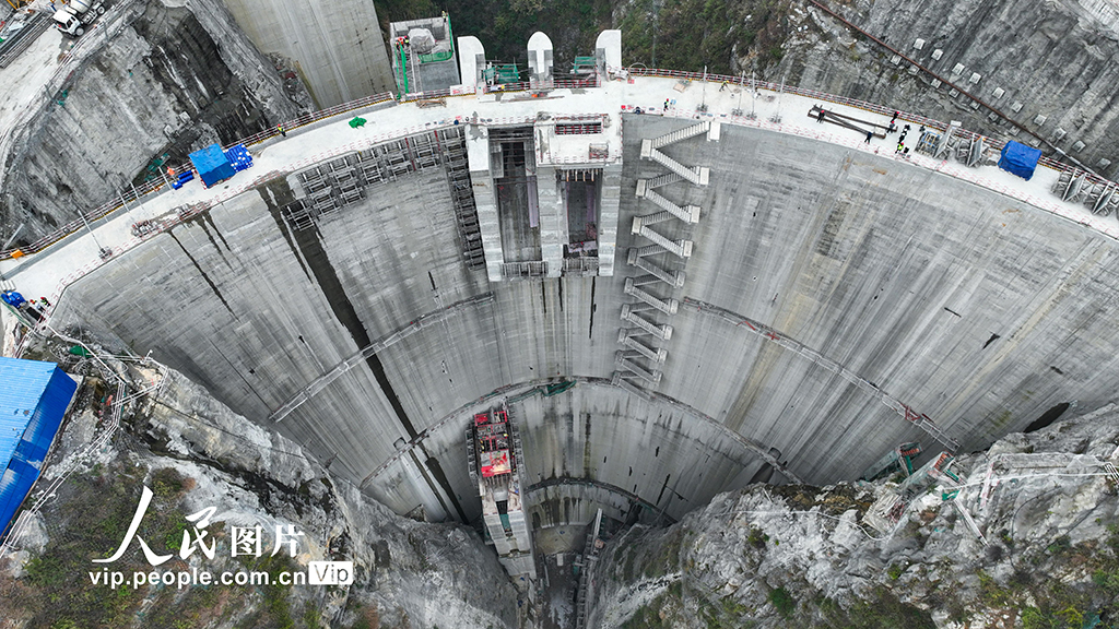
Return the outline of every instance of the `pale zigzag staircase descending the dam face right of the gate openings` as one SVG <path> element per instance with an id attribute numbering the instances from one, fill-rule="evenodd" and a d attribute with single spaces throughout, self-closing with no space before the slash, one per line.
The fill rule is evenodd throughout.
<path id="1" fill-rule="evenodd" d="M 668 358 L 662 345 L 673 338 L 673 326 L 666 319 L 679 309 L 679 300 L 671 295 L 684 287 L 686 279 L 683 269 L 676 266 L 687 264 L 692 256 L 690 240 L 667 234 L 687 235 L 699 223 L 700 214 L 698 206 L 678 205 L 657 190 L 681 181 L 706 186 L 709 179 L 709 169 L 681 165 L 660 149 L 703 134 L 708 141 L 717 141 L 718 123 L 705 121 L 641 141 L 641 158 L 664 166 L 669 172 L 637 182 L 636 196 L 659 212 L 633 217 L 630 228 L 649 244 L 630 247 L 627 254 L 632 274 L 626 278 L 624 291 L 630 301 L 622 304 L 622 325 L 618 331 L 618 345 L 622 348 L 614 354 L 611 384 L 642 397 L 648 397 L 645 387 L 659 384 L 662 377 L 660 367 Z"/>

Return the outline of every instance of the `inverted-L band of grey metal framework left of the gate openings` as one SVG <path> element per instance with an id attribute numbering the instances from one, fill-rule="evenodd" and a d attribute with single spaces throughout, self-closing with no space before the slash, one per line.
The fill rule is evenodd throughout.
<path id="1" fill-rule="evenodd" d="M 295 173 L 297 200 L 284 206 L 282 215 L 293 229 L 308 229 L 321 216 L 366 198 L 370 186 L 435 167 L 446 169 L 467 265 L 483 269 L 486 256 L 462 126 L 402 138 L 301 170 Z"/>

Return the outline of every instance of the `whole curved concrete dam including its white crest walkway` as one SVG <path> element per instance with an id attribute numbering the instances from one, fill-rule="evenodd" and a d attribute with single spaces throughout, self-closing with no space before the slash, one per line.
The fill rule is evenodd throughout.
<path id="1" fill-rule="evenodd" d="M 811 98 L 667 77 L 421 104 L 270 140 L 4 274 L 63 280 L 53 326 L 433 520 L 479 518 L 464 434 L 498 404 L 538 529 L 855 479 L 1113 395 L 1115 219 L 1037 193 L 1056 171 L 901 158 Z M 130 238 L 144 216 L 164 227 Z"/>

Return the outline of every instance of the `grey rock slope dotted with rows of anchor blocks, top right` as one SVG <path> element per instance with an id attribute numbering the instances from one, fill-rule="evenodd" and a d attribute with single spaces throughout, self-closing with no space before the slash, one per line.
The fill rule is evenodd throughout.
<path id="1" fill-rule="evenodd" d="M 1119 31 L 1074 0 L 855 0 L 827 4 L 855 26 L 998 109 L 1104 177 L 1119 177 Z M 1085 2 L 1088 4 L 1088 2 Z M 771 79 L 960 120 L 965 128 L 1022 142 L 1013 126 L 933 87 L 924 73 L 811 4 L 794 9 L 786 55 Z M 923 48 L 915 49 L 916 39 Z M 940 59 L 933 53 L 940 49 Z M 962 71 L 953 73 L 957 64 Z M 972 83 L 972 74 L 980 75 Z M 1002 95 L 996 95 L 996 90 Z M 1021 110 L 1014 111 L 1015 103 Z M 1044 115 L 1042 123 L 1036 116 Z M 1062 135 L 1059 130 L 1063 130 Z M 1084 148 L 1076 150 L 1080 141 Z M 1052 152 L 1052 151 L 1046 151 Z M 1100 160 L 1111 165 L 1100 167 Z"/>

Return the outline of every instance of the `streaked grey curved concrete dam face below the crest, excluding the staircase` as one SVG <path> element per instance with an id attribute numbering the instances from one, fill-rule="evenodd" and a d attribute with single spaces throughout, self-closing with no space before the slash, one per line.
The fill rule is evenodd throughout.
<path id="1" fill-rule="evenodd" d="M 297 204 L 313 182 L 275 179 L 72 284 L 56 316 L 150 349 L 396 511 L 435 519 L 479 516 L 464 431 L 499 400 L 547 526 L 598 507 L 678 518 L 772 463 L 827 484 L 904 441 L 935 450 L 884 396 L 967 451 L 1113 394 L 1112 238 L 904 161 L 730 124 L 662 149 L 709 168 L 706 186 L 658 188 L 702 219 L 657 226 L 693 243 L 686 266 L 660 263 L 686 282 L 659 382 L 611 384 L 638 276 L 627 252 L 649 244 L 630 225 L 657 212 L 634 193 L 666 172 L 642 139 L 693 123 L 617 120 L 612 275 L 490 281 L 457 219 L 461 177 L 436 160 L 313 217 Z M 517 255 L 506 243 L 505 262 Z M 558 381 L 575 385 L 543 394 Z"/>

